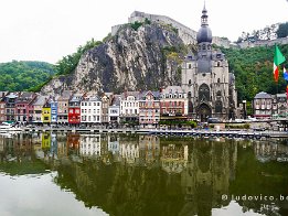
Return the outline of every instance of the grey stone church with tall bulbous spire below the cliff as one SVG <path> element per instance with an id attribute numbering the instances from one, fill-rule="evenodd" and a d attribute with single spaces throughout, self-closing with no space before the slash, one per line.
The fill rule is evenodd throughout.
<path id="1" fill-rule="evenodd" d="M 228 72 L 225 55 L 212 47 L 205 6 L 196 41 L 198 53 L 188 54 L 181 74 L 181 86 L 189 99 L 189 116 L 201 121 L 234 119 L 237 106 L 235 76 Z"/>

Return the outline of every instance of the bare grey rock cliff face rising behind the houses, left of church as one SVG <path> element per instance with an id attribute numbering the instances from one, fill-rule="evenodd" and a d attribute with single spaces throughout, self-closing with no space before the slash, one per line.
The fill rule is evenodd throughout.
<path id="1" fill-rule="evenodd" d="M 127 24 L 102 45 L 86 52 L 70 76 L 52 79 L 43 94 L 158 89 L 179 85 L 184 43 L 177 31 L 159 23 Z"/>

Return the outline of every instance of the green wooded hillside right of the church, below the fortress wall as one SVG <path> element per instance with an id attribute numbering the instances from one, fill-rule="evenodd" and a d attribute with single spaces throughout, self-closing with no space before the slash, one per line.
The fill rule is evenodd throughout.
<path id="1" fill-rule="evenodd" d="M 288 44 L 279 45 L 288 58 Z M 269 94 L 286 93 L 286 82 L 280 68 L 278 85 L 274 80 L 274 46 L 259 46 L 245 50 L 221 48 L 228 60 L 230 71 L 235 74 L 238 100 L 252 100 L 259 91 Z M 287 62 L 284 64 L 288 66 Z"/>

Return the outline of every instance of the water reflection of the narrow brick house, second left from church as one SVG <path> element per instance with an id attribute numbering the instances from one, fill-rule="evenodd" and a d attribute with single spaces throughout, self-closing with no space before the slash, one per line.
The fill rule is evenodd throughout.
<path id="1" fill-rule="evenodd" d="M 159 162 L 160 139 L 156 136 L 139 136 L 139 156 L 143 165 Z"/>

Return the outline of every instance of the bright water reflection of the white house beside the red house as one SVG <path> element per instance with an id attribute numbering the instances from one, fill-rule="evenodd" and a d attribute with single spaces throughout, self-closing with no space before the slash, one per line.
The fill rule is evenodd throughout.
<path id="1" fill-rule="evenodd" d="M 83 156 L 100 156 L 100 134 L 83 134 L 79 140 L 79 153 Z"/>

